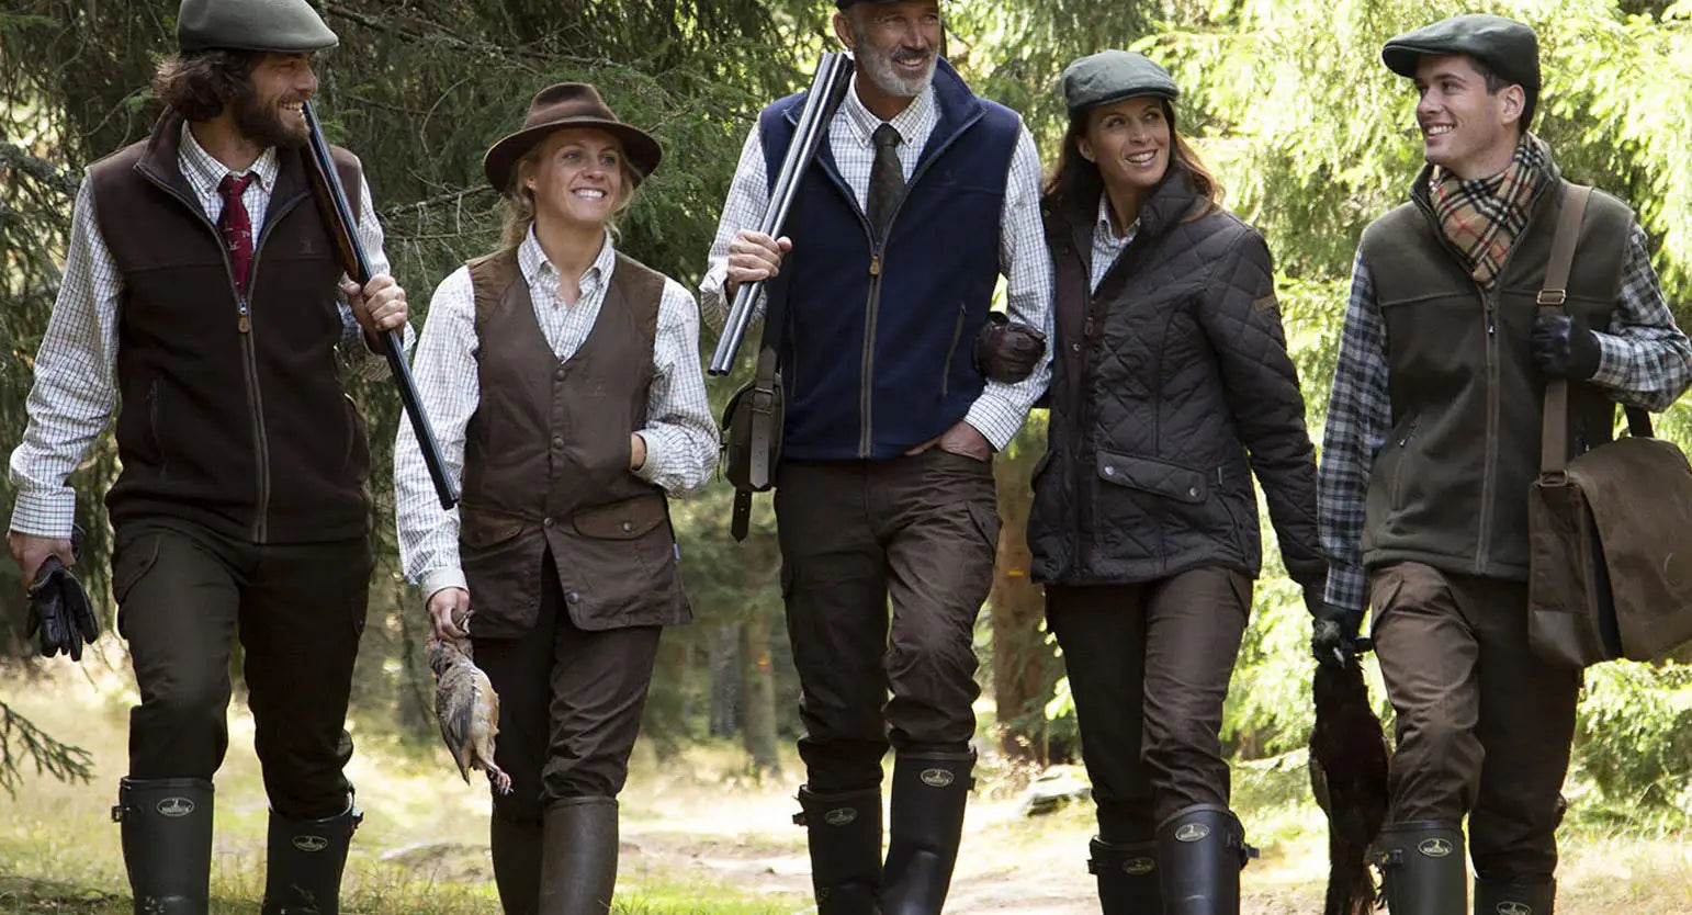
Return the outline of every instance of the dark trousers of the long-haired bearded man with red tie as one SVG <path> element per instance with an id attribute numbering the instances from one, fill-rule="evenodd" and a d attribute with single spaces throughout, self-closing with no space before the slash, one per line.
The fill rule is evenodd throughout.
<path id="1" fill-rule="evenodd" d="M 261 546 L 191 521 L 125 521 L 112 594 L 140 690 L 130 778 L 212 780 L 223 764 L 239 638 L 271 807 L 298 820 L 345 810 L 347 695 L 369 585 L 364 538 Z"/>

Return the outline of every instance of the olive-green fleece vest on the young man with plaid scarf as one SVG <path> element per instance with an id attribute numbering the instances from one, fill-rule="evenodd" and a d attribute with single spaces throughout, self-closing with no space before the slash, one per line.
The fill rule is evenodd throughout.
<path id="1" fill-rule="evenodd" d="M 1530 337 L 1563 183 L 1531 205 L 1504 269 L 1482 289 L 1440 232 L 1426 171 L 1411 203 L 1364 230 L 1360 255 L 1386 320 L 1393 428 L 1369 475 L 1364 565 L 1413 560 L 1462 575 L 1528 577 L 1528 487 L 1540 475 L 1545 375 Z M 1609 326 L 1633 211 L 1594 193 L 1567 310 Z M 1609 441 L 1616 404 L 1568 386 L 1570 455 Z"/>

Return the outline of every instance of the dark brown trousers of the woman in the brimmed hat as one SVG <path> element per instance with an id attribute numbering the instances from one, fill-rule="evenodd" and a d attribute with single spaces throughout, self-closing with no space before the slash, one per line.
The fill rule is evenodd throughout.
<path id="1" fill-rule="evenodd" d="M 511 793 L 494 814 L 540 824 L 569 797 L 618 797 L 658 658 L 660 626 L 579 629 L 570 621 L 548 550 L 535 627 L 519 638 L 472 638 L 475 663 L 499 695 L 494 763 Z"/>

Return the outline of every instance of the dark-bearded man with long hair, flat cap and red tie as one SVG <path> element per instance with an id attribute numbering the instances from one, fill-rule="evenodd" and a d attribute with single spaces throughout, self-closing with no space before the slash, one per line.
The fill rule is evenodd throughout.
<path id="1" fill-rule="evenodd" d="M 377 340 L 406 326 L 406 296 L 350 152 L 333 161 L 364 288 L 311 200 L 301 103 L 337 39 L 306 0 L 184 0 L 178 44 L 152 135 L 78 193 L 7 546 L 25 582 L 49 555 L 74 563 L 66 477 L 115 413 L 112 590 L 140 705 L 113 817 L 135 912 L 208 908 L 239 638 L 271 802 L 264 912 L 328 915 L 359 822 L 342 768 L 371 577 L 364 421 L 338 364 L 386 370 Z"/>

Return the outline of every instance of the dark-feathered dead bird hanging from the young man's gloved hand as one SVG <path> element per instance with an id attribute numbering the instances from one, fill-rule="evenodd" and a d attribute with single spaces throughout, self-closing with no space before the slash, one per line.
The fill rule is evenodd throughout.
<path id="1" fill-rule="evenodd" d="M 1316 727 L 1310 732 L 1310 786 L 1328 814 L 1328 896 L 1323 915 L 1365 915 L 1376 905 L 1369 846 L 1387 808 L 1386 737 L 1369 705 L 1355 655 L 1316 665 Z"/>

